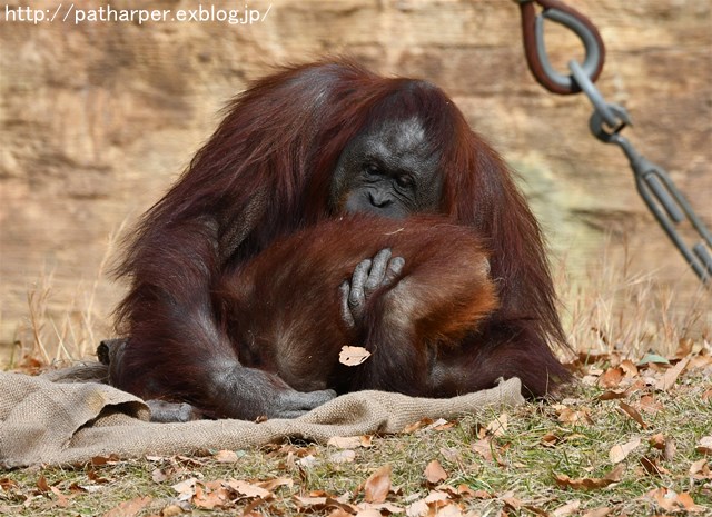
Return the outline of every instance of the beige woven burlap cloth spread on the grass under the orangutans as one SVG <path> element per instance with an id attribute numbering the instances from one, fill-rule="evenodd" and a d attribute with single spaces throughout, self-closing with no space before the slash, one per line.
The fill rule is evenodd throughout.
<path id="1" fill-rule="evenodd" d="M 294 420 L 156 424 L 148 421 L 142 400 L 107 385 L 61 384 L 0 372 L 0 466 L 243 449 L 285 437 L 325 443 L 333 436 L 398 433 L 423 418 L 448 418 L 522 402 L 520 380 L 510 379 L 496 388 L 449 399 L 359 391 Z"/>

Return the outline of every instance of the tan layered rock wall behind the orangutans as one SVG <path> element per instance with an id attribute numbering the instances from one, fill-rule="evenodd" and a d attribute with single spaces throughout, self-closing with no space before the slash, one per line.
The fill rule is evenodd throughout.
<path id="1" fill-rule="evenodd" d="M 712 227 L 711 2 L 568 4 L 601 30 L 607 60 L 597 86 L 632 113 L 625 135 Z M 621 151 L 589 133 L 586 99 L 553 96 L 531 77 L 512 1 L 254 0 L 247 9 L 266 16 L 250 24 L 75 24 L 71 16 L 28 20 L 28 6 L 49 17 L 59 2 L 0 6 L 0 361 L 13 342 L 37 340 L 38 327 L 82 342 L 106 336 L 122 292 L 107 272 L 116 236 L 181 172 L 249 80 L 335 53 L 425 78 L 455 99 L 521 172 L 562 291 L 595 300 L 611 276 L 669 288 L 678 311 L 710 300 L 637 197 Z M 582 59 L 577 40 L 548 26 L 554 63 Z M 695 325 L 704 332 L 710 321 L 703 310 Z"/>

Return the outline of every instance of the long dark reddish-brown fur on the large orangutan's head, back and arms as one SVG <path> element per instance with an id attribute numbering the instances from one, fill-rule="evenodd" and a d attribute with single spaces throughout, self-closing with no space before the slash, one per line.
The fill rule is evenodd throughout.
<path id="1" fill-rule="evenodd" d="M 399 102 L 388 102 L 394 96 Z M 487 240 L 500 300 L 478 346 L 452 369 L 491 371 L 483 385 L 516 375 L 537 396 L 565 381 L 552 354 L 565 337 L 541 231 L 507 167 L 439 89 L 336 60 L 284 69 L 238 96 L 147 212 L 118 268 L 130 289 L 117 328 L 130 342 L 115 384 L 221 406 L 219 394 L 201 388 L 211 368 L 238 356 L 217 322 L 220 278 L 278 237 L 338 216 L 328 188 L 346 143 L 373 121 L 412 116 L 441 156 L 439 211 Z"/>

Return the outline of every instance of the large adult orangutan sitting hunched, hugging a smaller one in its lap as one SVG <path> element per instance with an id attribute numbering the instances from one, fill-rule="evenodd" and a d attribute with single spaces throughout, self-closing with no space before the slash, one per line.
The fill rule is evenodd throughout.
<path id="1" fill-rule="evenodd" d="M 326 270 L 309 267 L 313 256 L 299 249 L 276 262 L 260 256 L 278 239 L 356 212 L 392 219 L 439 213 L 485 240 L 496 306 L 457 337 L 462 354 L 451 361 L 453 371 L 472 368 L 468 377 L 483 380 L 448 394 L 517 376 L 526 395 L 543 396 L 568 379 L 552 352 L 552 346 L 565 346 L 565 338 L 541 232 L 507 167 L 435 86 L 383 78 L 337 60 L 284 69 L 238 96 L 184 176 L 146 213 L 118 269 L 130 280 L 117 324 L 128 341 L 111 362 L 111 382 L 196 409 L 188 415 L 166 410 L 158 419 L 294 417 L 334 397 L 332 389 L 299 391 L 285 381 L 284 371 L 280 376 L 247 360 L 260 351 L 235 339 L 240 332 L 233 324 L 244 322 L 240 315 L 225 319 L 224 308 L 234 298 L 225 294 L 225 279 L 239 286 L 240 271 L 261 261 L 269 275 L 254 282 L 270 282 L 285 266 L 300 262 L 301 274 L 314 281 L 334 281 L 333 271 L 344 266 L 339 253 L 332 253 Z M 309 321 L 316 310 L 350 328 L 376 325 L 367 307 L 379 290 L 402 292 L 400 306 L 413 301 L 407 289 L 397 289 L 408 281 L 400 275 L 404 264 L 444 267 L 437 258 L 415 262 L 416 237 L 403 257 L 373 256 L 370 225 L 366 218 L 362 229 L 352 225 L 349 230 L 365 242 L 350 280 L 325 287 L 338 290 L 339 301 L 305 298 L 294 307 L 295 321 Z M 333 229 L 313 238 L 318 238 L 317 255 L 326 258 L 342 239 L 353 240 Z M 449 246 L 459 246 L 456 237 Z M 479 268 L 479 261 L 472 267 Z M 471 275 L 465 269 L 454 266 L 454 274 Z M 432 284 L 418 290 L 425 297 L 418 304 L 425 306 L 428 290 L 442 288 L 436 276 L 428 278 Z M 287 296 L 280 292 L 276 296 Z M 378 317 L 382 325 L 398 315 Z M 269 347 L 269 354 L 286 352 L 278 344 Z M 369 361 L 376 364 L 376 355 Z M 369 386 L 388 388 L 385 379 L 374 378 L 354 389 Z"/>

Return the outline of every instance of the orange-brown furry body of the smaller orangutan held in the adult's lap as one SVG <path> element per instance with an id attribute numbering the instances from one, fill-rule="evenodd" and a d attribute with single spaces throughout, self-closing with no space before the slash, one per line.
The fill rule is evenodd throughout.
<path id="1" fill-rule="evenodd" d="M 339 317 L 338 286 L 363 257 L 385 248 L 407 257 L 405 266 L 369 298 L 363 322 L 349 327 Z M 495 380 L 477 365 L 456 376 L 442 368 L 481 346 L 478 325 L 497 308 L 488 271 L 471 227 L 441 216 L 347 216 L 280 239 L 226 276 L 220 319 L 243 365 L 274 371 L 300 391 L 449 397 Z M 372 357 L 339 365 L 344 346 Z"/>

